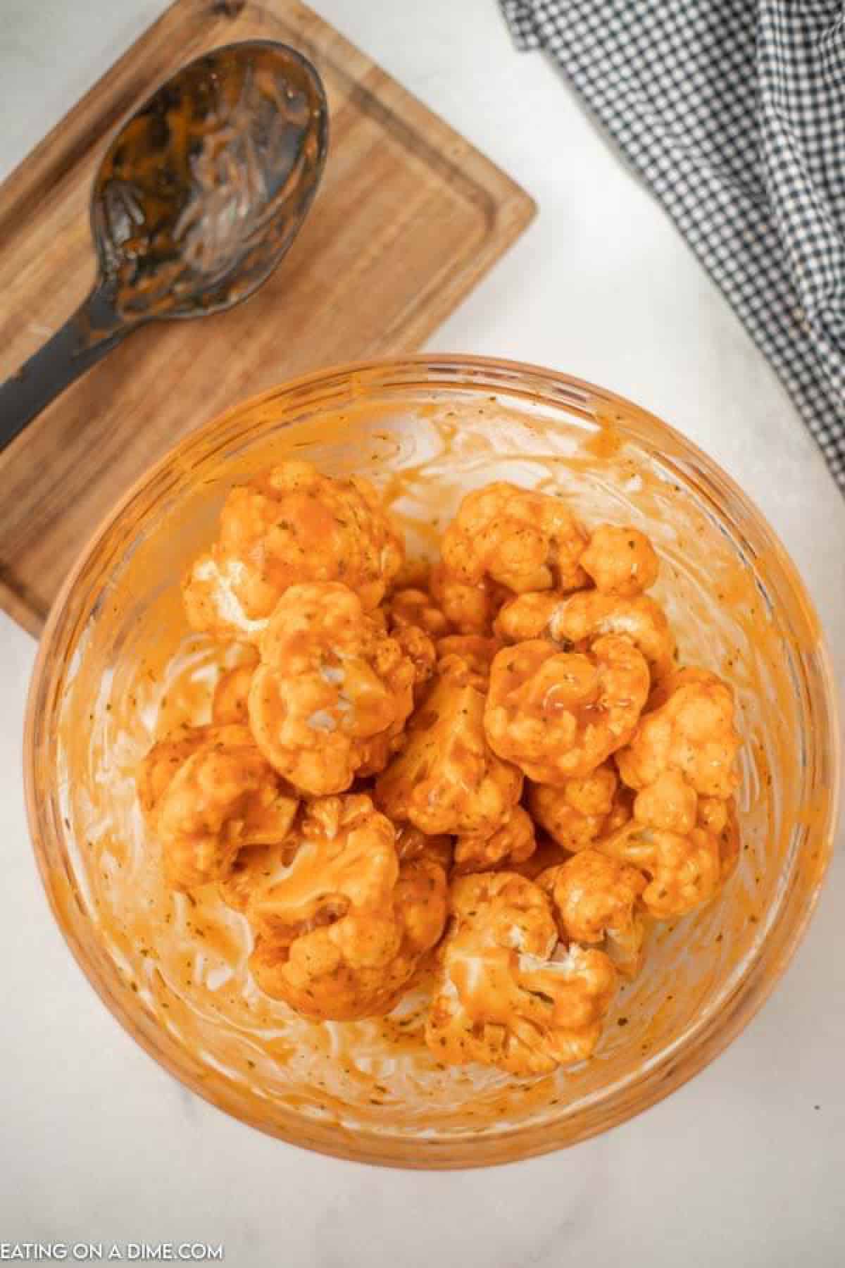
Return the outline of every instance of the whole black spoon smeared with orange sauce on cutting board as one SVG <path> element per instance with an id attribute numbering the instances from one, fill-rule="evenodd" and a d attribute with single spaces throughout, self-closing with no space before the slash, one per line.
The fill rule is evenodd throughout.
<path id="1" fill-rule="evenodd" d="M 299 232 L 327 148 L 319 75 L 286 44 L 226 44 L 163 84 L 94 181 L 94 290 L 0 387 L 0 448 L 138 326 L 257 290 Z"/>

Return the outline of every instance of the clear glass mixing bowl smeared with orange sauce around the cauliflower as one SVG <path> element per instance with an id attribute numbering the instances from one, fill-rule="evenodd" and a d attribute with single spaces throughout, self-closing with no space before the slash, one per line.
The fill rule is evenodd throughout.
<path id="1" fill-rule="evenodd" d="M 163 891 L 133 771 L 157 729 L 208 716 L 220 652 L 179 581 L 227 489 L 284 455 L 374 479 L 410 552 L 470 487 L 564 493 L 635 524 L 682 661 L 736 689 L 742 852 L 725 893 L 659 927 L 592 1060 L 518 1080 L 445 1069 L 422 995 L 388 1019 L 310 1023 L 256 990 L 242 917 Z M 749 1022 L 807 927 L 831 851 L 839 730 L 812 605 L 759 511 L 709 458 L 600 388 L 507 361 L 418 356 L 265 392 L 182 440 L 94 534 L 47 623 L 29 696 L 29 823 L 56 919 L 134 1038 L 222 1110 L 298 1145 L 399 1167 L 475 1167 L 631 1117 Z"/>

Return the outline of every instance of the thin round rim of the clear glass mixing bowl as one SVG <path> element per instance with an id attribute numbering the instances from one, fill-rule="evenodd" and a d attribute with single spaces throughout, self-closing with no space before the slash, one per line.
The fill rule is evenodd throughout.
<path id="1" fill-rule="evenodd" d="M 806 614 L 810 624 L 817 631 L 817 639 L 813 647 L 813 654 L 817 661 L 817 672 L 820 682 L 822 685 L 822 699 L 826 709 L 827 720 L 827 741 L 830 742 L 829 761 L 832 771 L 832 786 L 830 790 L 830 801 L 827 809 L 826 822 L 820 825 L 816 831 L 818 836 L 817 847 L 820 851 L 820 861 L 817 869 L 817 879 L 815 888 L 810 895 L 810 900 L 804 904 L 801 914 L 794 921 L 788 937 L 784 940 L 782 951 L 777 961 L 772 965 L 772 971 L 765 976 L 763 983 L 756 984 L 754 997 L 749 1000 L 745 999 L 745 1009 L 737 1007 L 739 989 L 745 984 L 749 974 L 744 975 L 737 988 L 731 998 L 725 1002 L 721 1012 L 723 1013 L 723 1025 L 720 1026 L 716 1033 L 711 1032 L 707 1036 L 706 1042 L 699 1042 L 698 1046 L 692 1047 L 684 1052 L 684 1063 L 677 1061 L 674 1058 L 669 1058 L 671 1065 L 664 1077 L 660 1079 L 652 1079 L 649 1083 L 647 1089 L 644 1092 L 641 1089 L 641 1099 L 635 1107 L 633 1112 L 625 1113 L 623 1116 L 614 1118 L 609 1123 L 597 1122 L 595 1125 L 588 1127 L 587 1130 L 579 1131 L 571 1139 L 559 1140 L 555 1137 L 554 1123 L 549 1129 L 549 1140 L 538 1140 L 536 1144 L 523 1142 L 518 1154 L 513 1158 L 479 1158 L 478 1160 L 441 1160 L 437 1158 L 427 1158 L 423 1153 L 421 1158 L 405 1158 L 405 1159 L 390 1159 L 380 1156 L 378 1153 L 367 1153 L 366 1148 L 359 1149 L 355 1155 L 348 1150 L 342 1148 L 338 1142 L 337 1146 L 327 1144 L 324 1141 L 303 1141 L 294 1140 L 285 1132 L 275 1130 L 266 1123 L 262 1123 L 257 1117 L 252 1117 L 246 1113 L 241 1113 L 228 1106 L 220 1103 L 218 1097 L 212 1089 L 205 1089 L 203 1087 L 195 1085 L 195 1083 L 186 1079 L 182 1071 L 176 1066 L 175 1061 L 170 1056 L 160 1050 L 155 1050 L 152 1044 L 147 1040 L 147 1036 L 138 1032 L 130 1022 L 129 1013 L 124 1009 L 123 1004 L 113 999 L 104 983 L 101 983 L 96 974 L 92 971 L 92 965 L 90 956 L 87 955 L 84 946 L 77 945 L 77 940 L 72 936 L 70 928 L 66 927 L 66 922 L 62 917 L 60 903 L 57 900 L 57 894 L 52 885 L 52 879 L 47 866 L 47 860 L 44 857 L 43 850 L 38 843 L 39 833 L 39 817 L 37 808 L 37 789 L 35 789 L 35 753 L 37 753 L 37 735 L 38 735 L 38 700 L 44 683 L 49 676 L 49 661 L 51 661 L 51 647 L 53 638 L 56 635 L 56 629 L 60 625 L 65 607 L 67 605 L 68 596 L 71 595 L 73 587 L 77 583 L 79 577 L 84 572 L 86 564 L 89 563 L 91 555 L 95 553 L 99 544 L 106 536 L 109 530 L 120 520 L 125 508 L 132 503 L 132 501 L 141 493 L 156 477 L 170 468 L 174 462 L 187 453 L 196 444 L 201 443 L 201 439 L 210 431 L 223 427 L 229 420 L 241 415 L 246 411 L 252 411 L 261 406 L 266 401 L 286 394 L 291 396 L 294 392 L 308 388 L 323 380 L 331 379 L 351 379 L 356 375 L 367 374 L 385 374 L 390 370 L 398 372 L 402 368 L 413 369 L 414 366 L 427 368 L 443 368 L 445 370 L 467 373 L 490 372 L 493 374 L 513 373 L 519 379 L 533 378 L 537 380 L 536 385 L 542 391 L 545 385 L 545 393 L 552 387 L 562 388 L 565 391 L 576 391 L 584 393 L 587 397 L 602 399 L 609 402 L 613 406 L 621 407 L 623 411 L 630 411 L 633 416 L 646 421 L 649 425 L 654 426 L 658 432 L 663 432 L 666 439 L 677 444 L 685 455 L 698 460 L 703 469 L 708 473 L 716 474 L 720 482 L 726 487 L 726 489 L 739 501 L 745 511 L 751 512 L 751 516 L 756 520 L 756 527 L 759 531 L 768 536 L 769 543 L 777 549 L 779 564 L 785 573 L 787 581 L 794 593 L 794 597 L 799 600 L 803 612 Z M 413 380 L 403 383 L 404 387 L 412 388 L 414 385 Z M 421 388 L 428 387 L 447 387 L 447 383 L 437 384 L 426 380 L 421 380 L 418 384 Z M 514 392 L 513 394 L 519 394 Z M 528 394 L 523 392 L 522 394 Z M 561 370 L 549 369 L 546 366 L 536 365 L 532 363 L 524 363 L 519 360 L 513 360 L 508 358 L 498 356 L 476 356 L 476 355 L 462 355 L 462 354 L 440 354 L 432 353 L 413 353 L 402 354 L 394 356 L 380 356 L 369 358 L 365 360 L 334 363 L 327 366 L 322 366 L 317 370 L 309 370 L 308 373 L 299 374 L 290 379 L 284 379 L 279 384 L 267 388 L 262 392 L 255 393 L 253 396 L 245 397 L 243 399 L 229 406 L 227 410 L 213 415 L 200 426 L 189 431 L 185 436 L 177 440 L 156 463 L 151 464 L 142 472 L 142 474 L 129 486 L 129 488 L 117 500 L 114 506 L 100 519 L 99 524 L 91 531 L 84 547 L 80 549 L 73 566 L 71 567 L 65 582 L 62 583 L 53 604 L 51 605 L 44 628 L 42 630 L 41 640 L 38 644 L 38 652 L 32 670 L 29 690 L 27 696 L 25 719 L 24 719 L 24 735 L 23 735 L 23 766 L 24 766 L 24 791 L 27 803 L 27 822 L 29 828 L 29 837 L 35 855 L 35 862 L 38 866 L 38 872 L 44 886 L 47 900 L 49 908 L 53 913 L 53 918 L 58 924 L 58 928 L 67 943 L 73 959 L 76 960 L 79 967 L 84 973 L 89 984 L 94 988 L 100 1000 L 105 1004 L 109 1012 L 115 1017 L 115 1019 L 123 1026 L 123 1028 L 130 1035 L 130 1037 L 148 1052 L 149 1056 L 160 1065 L 163 1066 L 174 1078 L 176 1078 L 184 1087 L 190 1092 L 203 1097 L 206 1102 L 213 1104 L 217 1110 L 227 1113 L 229 1117 L 234 1117 L 257 1130 L 274 1136 L 275 1139 L 284 1140 L 286 1144 L 296 1145 L 298 1148 L 309 1149 L 312 1151 L 321 1153 L 323 1155 L 340 1158 L 345 1161 L 357 1161 L 361 1164 L 379 1165 L 379 1167 L 394 1167 L 400 1169 L 474 1169 L 480 1167 L 490 1165 L 503 1165 L 516 1160 L 522 1160 L 526 1158 L 537 1156 L 540 1154 L 551 1153 L 561 1148 L 569 1148 L 574 1144 L 579 1144 L 581 1140 L 590 1139 L 609 1127 L 619 1126 L 622 1122 L 636 1117 L 644 1110 L 650 1108 L 658 1102 L 663 1101 L 671 1092 L 683 1087 L 689 1079 L 698 1074 L 702 1069 L 709 1065 L 721 1052 L 728 1047 L 730 1044 L 746 1028 L 751 1019 L 756 1016 L 759 1009 L 772 995 L 773 990 L 783 978 L 788 965 L 791 964 L 801 941 L 803 940 L 812 915 L 816 910 L 818 896 L 823 886 L 831 857 L 834 851 L 834 838 L 836 836 L 836 828 L 840 818 L 840 801 L 841 801 L 841 784 L 842 784 L 842 743 L 841 743 L 841 708 L 839 690 L 836 685 L 835 673 L 832 670 L 830 650 L 825 638 L 823 628 L 818 619 L 815 604 L 810 597 L 803 579 L 792 560 L 789 552 L 783 545 L 780 538 L 775 530 L 769 524 L 768 519 L 759 510 L 756 503 L 749 497 L 747 493 L 734 481 L 734 478 L 722 469 L 722 467 L 711 458 L 704 450 L 702 450 L 694 441 L 689 440 L 682 432 L 679 432 L 670 424 L 664 422 L 660 417 L 651 413 L 651 411 L 645 410 L 636 402 L 622 397 L 609 388 L 603 388 L 589 380 L 580 379 L 575 375 L 568 374 Z M 758 960 L 754 961 L 756 965 Z M 503 1148 L 514 1136 L 526 1132 L 524 1126 L 517 1126 L 495 1137 L 484 1137 L 488 1144 L 495 1141 Z M 403 1140 L 404 1137 L 390 1136 L 385 1134 L 379 1136 L 379 1141 L 384 1141 L 388 1145 L 391 1140 Z M 357 1137 L 356 1137 L 357 1140 Z M 362 1144 L 362 1141 L 361 1141 Z M 465 1144 L 464 1137 L 455 1137 L 455 1146 Z M 480 1144 L 480 1140 L 479 1140 Z M 526 1148 L 527 1146 L 527 1148 Z"/>

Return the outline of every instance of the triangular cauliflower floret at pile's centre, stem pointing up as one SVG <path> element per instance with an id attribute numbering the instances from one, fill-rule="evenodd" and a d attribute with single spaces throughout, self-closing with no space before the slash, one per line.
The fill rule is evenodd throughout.
<path id="1" fill-rule="evenodd" d="M 459 658 L 460 659 L 460 658 Z M 376 803 L 391 819 L 428 833 L 493 833 L 522 794 L 522 775 L 484 737 L 484 695 L 464 667 L 438 675 L 414 713 L 404 751 L 376 781 Z"/>

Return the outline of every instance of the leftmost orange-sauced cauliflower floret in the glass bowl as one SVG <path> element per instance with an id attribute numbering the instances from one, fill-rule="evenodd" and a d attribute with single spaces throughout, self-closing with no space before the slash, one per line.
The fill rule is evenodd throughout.
<path id="1" fill-rule="evenodd" d="M 284 841 L 296 813 L 247 727 L 180 728 L 149 751 L 138 790 L 175 889 L 226 876 L 245 846 Z"/>

